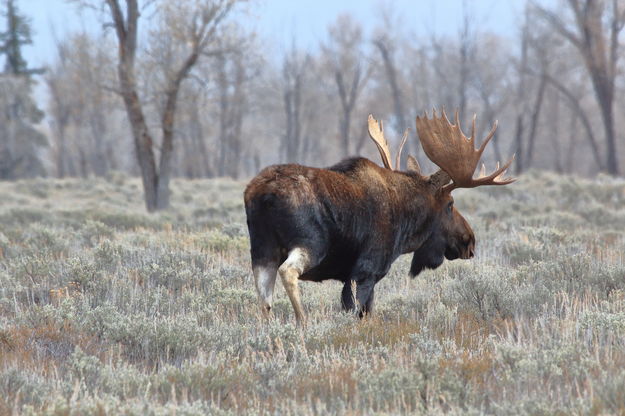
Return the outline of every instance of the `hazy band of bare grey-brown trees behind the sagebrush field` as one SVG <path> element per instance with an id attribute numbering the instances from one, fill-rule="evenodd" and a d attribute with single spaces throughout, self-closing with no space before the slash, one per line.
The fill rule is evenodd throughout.
<path id="1" fill-rule="evenodd" d="M 5 16 L 12 3 L 2 5 Z M 121 2 L 123 16 L 133 3 Z M 616 129 L 623 118 L 615 109 L 625 104 L 618 93 L 625 1 L 569 0 L 557 8 L 528 1 L 513 39 L 489 32 L 470 2 L 459 2 L 464 9 L 457 35 L 416 36 L 388 3 L 376 13 L 371 35 L 353 16 L 337 16 L 314 52 L 295 41 L 276 46 L 250 33 L 231 11 L 242 1 L 182 2 L 175 9 L 166 3 L 152 4 L 155 17 L 142 20 L 147 29 L 136 45 L 133 70 L 154 159 L 158 164 L 171 147 L 172 176 L 241 178 L 277 162 L 323 166 L 357 154 L 376 159 L 366 134 L 369 113 L 386 121 L 393 146 L 410 128 L 405 153 L 427 166 L 414 118 L 441 106 L 458 108 L 467 128 L 477 113 L 481 136 L 499 120 L 487 165 L 516 153 L 516 173 L 623 169 L 625 143 Z M 137 162 L 140 146 L 129 122 L 128 91 L 119 78 L 113 9 L 98 7 L 111 24 L 100 34 L 60 39 L 43 75 L 49 100 L 38 105 L 47 140 L 41 128 L 32 128 L 41 120 L 29 98 L 31 88 L 24 87 L 32 71 L 25 62 L 21 70 L 10 69 L 7 39 L 14 29 L 7 25 L 2 33 L 0 52 L 7 58 L 0 79 L 2 177 L 145 174 Z M 206 13 L 198 10 L 212 11 L 213 20 L 203 21 Z M 219 19 L 216 13 L 222 11 Z M 199 32 L 189 28 L 203 23 L 211 32 L 194 49 Z M 172 85 L 194 50 L 199 53 L 177 84 L 168 129 Z M 171 146 L 163 145 L 167 134 Z"/>

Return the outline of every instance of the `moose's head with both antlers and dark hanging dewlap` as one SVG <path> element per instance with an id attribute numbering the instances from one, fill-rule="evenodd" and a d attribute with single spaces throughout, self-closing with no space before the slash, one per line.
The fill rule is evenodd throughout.
<path id="1" fill-rule="evenodd" d="M 410 274 L 416 276 L 425 268 L 434 269 L 443 263 L 444 258 L 455 260 L 458 258 L 469 259 L 474 256 L 475 235 L 469 223 L 454 206 L 451 195 L 456 188 L 475 188 L 482 185 L 507 185 L 514 182 L 514 178 L 504 178 L 506 170 L 514 161 L 514 156 L 508 162 L 497 167 L 495 171 L 486 175 L 486 167 L 482 164 L 480 174 L 473 178 L 473 174 L 482 157 L 486 145 L 494 137 L 497 130 L 497 122 L 493 124 L 490 132 L 483 140 L 479 148 L 475 148 L 475 123 L 473 116 L 471 136 L 466 137 L 460 127 L 458 111 L 455 113 L 455 123 L 449 121 L 445 110 L 437 116 L 436 110 L 432 111 L 432 118 L 427 113 L 417 116 L 417 134 L 421 146 L 427 157 L 437 165 L 440 170 L 430 175 L 423 176 L 417 160 L 408 156 L 408 172 L 418 177 L 427 186 L 422 187 L 428 195 L 428 202 L 432 212 L 430 226 L 432 232 L 428 238 L 415 251 L 410 267 Z M 376 144 L 382 163 L 387 169 L 393 170 L 390 150 L 384 137 L 382 124 L 378 123 L 371 115 L 369 116 L 369 135 Z M 396 157 L 396 167 L 399 168 L 401 152 L 407 138 L 407 131 L 401 141 Z"/>

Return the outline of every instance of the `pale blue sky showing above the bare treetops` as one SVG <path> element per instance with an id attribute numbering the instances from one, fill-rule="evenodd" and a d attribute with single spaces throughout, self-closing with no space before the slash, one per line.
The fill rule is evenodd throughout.
<path id="1" fill-rule="evenodd" d="M 513 37 L 525 0 L 464 0 L 482 31 Z M 249 6 L 249 20 L 261 39 L 273 50 L 284 50 L 295 37 L 298 45 L 313 49 L 328 25 L 341 13 L 350 13 L 365 31 L 378 22 L 376 13 L 391 5 L 405 29 L 416 34 L 457 34 L 462 22 L 463 0 L 260 0 Z M 17 0 L 22 13 L 32 19 L 34 45 L 24 50 L 31 66 L 43 66 L 54 57 L 54 37 L 72 31 L 101 29 L 93 11 L 81 16 L 75 3 L 66 0 Z"/>

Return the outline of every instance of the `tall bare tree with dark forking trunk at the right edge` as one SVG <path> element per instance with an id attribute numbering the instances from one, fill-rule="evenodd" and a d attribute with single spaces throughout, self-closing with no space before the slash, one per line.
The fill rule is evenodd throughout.
<path id="1" fill-rule="evenodd" d="M 572 21 L 562 13 L 533 2 L 533 6 L 580 53 L 590 75 L 605 132 L 606 169 L 618 175 L 614 119 L 615 80 L 618 75 L 619 35 L 625 24 L 625 5 L 619 0 L 567 0 Z"/>

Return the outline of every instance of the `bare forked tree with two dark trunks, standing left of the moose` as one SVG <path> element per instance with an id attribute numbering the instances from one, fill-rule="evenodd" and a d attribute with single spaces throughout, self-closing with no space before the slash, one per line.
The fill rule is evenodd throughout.
<path id="1" fill-rule="evenodd" d="M 220 29 L 236 3 L 242 0 L 186 0 L 157 2 L 155 11 L 162 36 L 176 40 L 177 63 L 168 68 L 160 114 L 160 159 L 157 165 L 155 136 L 146 122 L 145 104 L 139 95 L 136 57 L 140 8 L 138 0 L 106 0 L 119 43 L 117 72 L 135 142 L 135 152 L 145 191 L 145 203 L 152 212 L 169 205 L 169 181 L 172 172 L 174 125 L 180 86 L 198 60 L 213 47 Z M 154 2 L 149 2 L 154 3 Z M 124 6 L 125 7 L 122 7 Z M 213 52 L 213 51 L 211 51 Z"/>

